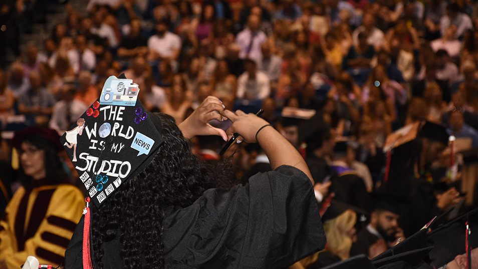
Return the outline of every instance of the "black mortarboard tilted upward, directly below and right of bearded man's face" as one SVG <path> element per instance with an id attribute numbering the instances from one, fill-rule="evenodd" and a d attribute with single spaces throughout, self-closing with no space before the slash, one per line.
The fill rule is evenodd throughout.
<path id="1" fill-rule="evenodd" d="M 423 251 L 428 253 L 428 251 L 430 251 L 431 249 L 428 249 L 428 251 L 424 250 L 426 247 L 428 247 L 426 241 L 426 232 L 426 229 L 421 229 L 415 232 L 410 237 L 406 238 L 405 240 L 397 243 L 393 247 L 374 257 L 372 259 L 373 264 L 376 267 L 379 267 L 385 263 L 397 260 L 407 260 L 407 262 L 412 265 L 418 264 L 415 263 L 415 261 L 420 261 L 423 258 L 423 256 L 421 256 Z M 394 256 L 398 257 L 392 258 Z M 421 258 L 418 259 L 418 257 Z"/>

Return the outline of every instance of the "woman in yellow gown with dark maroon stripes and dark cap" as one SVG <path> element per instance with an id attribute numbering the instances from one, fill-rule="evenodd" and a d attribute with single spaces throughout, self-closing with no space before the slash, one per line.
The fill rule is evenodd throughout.
<path id="1" fill-rule="evenodd" d="M 85 201 L 69 184 L 58 157 L 55 130 L 31 127 L 15 134 L 22 187 L 0 220 L 0 268 L 18 269 L 27 256 L 41 264 L 65 264 L 65 249 L 80 220 Z"/>

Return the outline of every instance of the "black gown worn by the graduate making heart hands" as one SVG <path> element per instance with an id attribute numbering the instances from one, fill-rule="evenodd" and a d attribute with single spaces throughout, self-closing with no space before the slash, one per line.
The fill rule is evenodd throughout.
<path id="1" fill-rule="evenodd" d="M 166 209 L 165 268 L 280 268 L 324 248 L 309 178 L 291 166 L 258 173 L 246 186 L 206 190 L 192 205 Z M 83 219 L 65 252 L 82 268 Z M 119 238 L 102 245 L 104 268 L 122 268 Z"/>

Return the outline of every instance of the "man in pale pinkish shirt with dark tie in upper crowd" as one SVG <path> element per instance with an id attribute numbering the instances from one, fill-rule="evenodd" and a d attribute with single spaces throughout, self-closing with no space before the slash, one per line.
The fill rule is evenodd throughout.
<path id="1" fill-rule="evenodd" d="M 261 18 L 257 15 L 248 17 L 248 27 L 239 32 L 235 38 L 235 43 L 241 47 L 239 58 L 241 59 L 261 59 L 261 46 L 267 41 L 267 35 L 259 30 L 261 27 Z"/>

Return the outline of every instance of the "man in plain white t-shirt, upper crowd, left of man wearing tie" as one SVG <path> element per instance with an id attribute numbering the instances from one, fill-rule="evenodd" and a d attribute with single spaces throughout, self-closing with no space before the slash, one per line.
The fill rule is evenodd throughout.
<path id="1" fill-rule="evenodd" d="M 148 39 L 148 60 L 169 59 L 176 60 L 181 50 L 181 38 L 168 32 L 169 22 L 167 19 L 158 21 L 156 24 L 157 34 Z"/>

